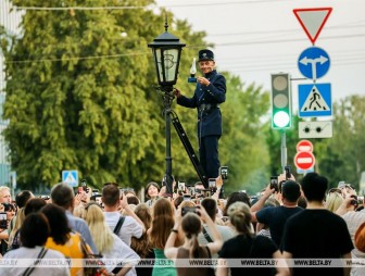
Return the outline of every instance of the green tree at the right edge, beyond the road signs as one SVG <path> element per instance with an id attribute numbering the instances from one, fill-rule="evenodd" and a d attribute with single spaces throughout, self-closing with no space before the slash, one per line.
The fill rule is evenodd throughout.
<path id="1" fill-rule="evenodd" d="M 315 143 L 319 172 L 330 186 L 345 180 L 356 188 L 365 171 L 365 97 L 350 96 L 333 104 L 333 137 Z"/>

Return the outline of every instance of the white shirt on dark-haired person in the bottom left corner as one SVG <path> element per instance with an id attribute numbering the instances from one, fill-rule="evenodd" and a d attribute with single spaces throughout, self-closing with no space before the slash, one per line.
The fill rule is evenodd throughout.
<path id="1" fill-rule="evenodd" d="M 37 259 L 38 254 L 41 250 L 41 247 L 35 247 L 35 248 L 25 248 L 25 247 L 21 247 L 18 249 L 14 249 L 11 250 L 9 252 L 7 252 L 3 256 L 2 262 L 7 261 L 12 261 L 12 262 L 17 262 L 16 264 L 5 267 L 2 266 L 0 269 L 0 276 L 4 275 L 4 276 L 9 276 L 9 275 L 23 275 L 23 273 L 27 269 L 27 267 L 25 267 L 24 262 L 22 262 L 22 260 L 18 259 Z M 63 264 L 66 264 L 66 259 L 65 256 L 55 250 L 52 249 L 48 249 L 46 255 L 42 258 L 42 260 L 46 259 L 54 259 L 58 260 L 60 262 L 62 262 Z M 70 275 L 70 267 L 66 265 L 58 265 L 55 267 L 47 267 L 47 266 L 38 266 L 35 267 L 34 271 L 32 272 L 32 276 L 68 276 Z"/>

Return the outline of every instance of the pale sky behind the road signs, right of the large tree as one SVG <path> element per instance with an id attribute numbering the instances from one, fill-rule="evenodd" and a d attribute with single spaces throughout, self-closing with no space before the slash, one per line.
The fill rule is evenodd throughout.
<path id="1" fill-rule="evenodd" d="M 300 54 L 312 42 L 293 9 L 332 8 L 315 46 L 330 59 L 317 84 L 330 84 L 332 102 L 350 95 L 365 96 L 364 0 L 156 0 L 192 30 L 204 30 L 215 47 L 217 71 L 240 76 L 270 90 L 270 74 L 291 75 L 293 109 L 298 86 L 313 84 L 298 68 Z M 193 57 L 191 57 L 192 60 Z M 180 71 L 189 68 L 179 68 Z M 297 79 L 297 80 L 295 80 Z"/>

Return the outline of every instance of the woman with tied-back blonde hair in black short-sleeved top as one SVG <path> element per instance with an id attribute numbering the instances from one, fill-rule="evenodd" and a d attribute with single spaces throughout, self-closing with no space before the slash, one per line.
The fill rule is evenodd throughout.
<path id="1" fill-rule="evenodd" d="M 272 267 L 237 267 L 232 263 L 232 259 L 280 259 L 281 253 L 269 238 L 253 234 L 251 211 L 248 204 L 235 202 L 228 208 L 227 214 L 237 236 L 223 244 L 216 275 L 273 275 Z M 277 266 L 277 275 L 289 275 L 289 269 L 280 264 Z"/>

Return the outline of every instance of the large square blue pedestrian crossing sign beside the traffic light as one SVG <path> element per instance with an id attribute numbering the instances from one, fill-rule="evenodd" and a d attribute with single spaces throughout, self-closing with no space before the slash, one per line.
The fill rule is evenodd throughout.
<path id="1" fill-rule="evenodd" d="M 298 92 L 300 117 L 332 115 L 330 84 L 299 85 Z"/>

